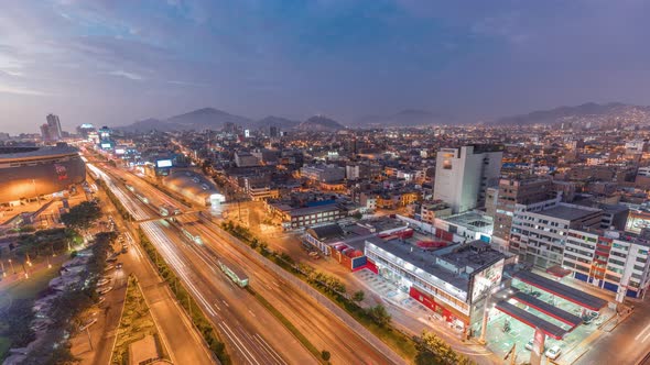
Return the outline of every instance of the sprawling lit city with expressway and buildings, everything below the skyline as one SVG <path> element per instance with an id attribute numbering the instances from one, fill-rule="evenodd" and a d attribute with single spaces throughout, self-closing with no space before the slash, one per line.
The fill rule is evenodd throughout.
<path id="1" fill-rule="evenodd" d="M 4 136 L 1 285 L 48 279 L 6 364 L 646 357 L 647 113 L 365 129 L 183 118 L 197 114 L 215 128 L 64 132 L 48 114 Z M 67 296 L 78 308 L 59 313 Z"/>

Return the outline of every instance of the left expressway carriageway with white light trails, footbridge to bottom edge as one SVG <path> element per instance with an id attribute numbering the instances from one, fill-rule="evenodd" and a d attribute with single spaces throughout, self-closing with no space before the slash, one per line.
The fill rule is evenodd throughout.
<path id="1" fill-rule="evenodd" d="M 164 223 L 145 222 L 161 254 L 187 285 L 209 319 L 250 364 L 305 364 L 315 360 L 246 290 L 237 287 L 196 244 Z M 267 340 L 268 339 L 268 340 Z M 283 351 L 279 351 L 283 349 Z M 286 351 L 290 349 L 291 351 Z M 280 355 L 282 353 L 282 355 Z M 286 362 L 283 357 L 288 357 Z"/>

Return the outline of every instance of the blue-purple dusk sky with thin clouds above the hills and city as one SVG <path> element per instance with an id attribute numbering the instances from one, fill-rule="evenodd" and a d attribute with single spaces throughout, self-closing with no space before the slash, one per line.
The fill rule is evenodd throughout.
<path id="1" fill-rule="evenodd" d="M 0 132 L 650 104 L 644 0 L 2 0 Z"/>

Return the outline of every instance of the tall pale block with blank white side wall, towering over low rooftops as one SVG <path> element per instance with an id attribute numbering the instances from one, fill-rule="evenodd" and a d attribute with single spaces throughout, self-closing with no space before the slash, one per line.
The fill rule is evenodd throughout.
<path id="1" fill-rule="evenodd" d="M 433 199 L 448 203 L 454 213 L 484 206 L 486 189 L 499 181 L 502 157 L 502 145 L 442 148 L 436 158 Z"/>

